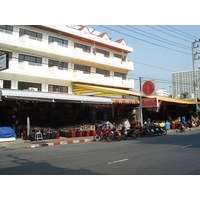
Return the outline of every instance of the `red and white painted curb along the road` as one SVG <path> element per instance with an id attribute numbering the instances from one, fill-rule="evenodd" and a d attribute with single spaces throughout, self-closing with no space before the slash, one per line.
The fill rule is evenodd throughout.
<path id="1" fill-rule="evenodd" d="M 70 140 L 70 141 L 61 141 L 61 142 L 49 142 L 49 143 L 33 144 L 31 146 L 26 146 L 26 147 L 23 147 L 23 148 L 29 149 L 29 148 L 38 148 L 38 147 L 63 145 L 63 144 L 77 144 L 77 143 L 91 142 L 91 141 L 93 141 L 93 139 Z"/>

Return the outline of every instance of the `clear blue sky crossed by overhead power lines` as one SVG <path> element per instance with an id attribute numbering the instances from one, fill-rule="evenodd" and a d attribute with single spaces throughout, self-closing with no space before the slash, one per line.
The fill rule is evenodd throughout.
<path id="1" fill-rule="evenodd" d="M 129 72 L 129 78 L 135 79 L 136 91 L 139 91 L 138 77 L 143 77 L 144 80 L 155 79 L 157 90 L 164 88 L 169 92 L 172 72 L 192 70 L 191 43 L 195 39 L 200 39 L 200 25 L 89 25 L 89 27 L 101 33 L 106 32 L 114 41 L 124 38 L 127 45 L 133 47 L 134 52 L 129 54 L 128 59 L 134 62 L 134 71 Z M 198 50 L 200 52 L 200 48 L 195 49 Z M 200 65 L 200 60 L 196 60 L 195 64 Z"/>

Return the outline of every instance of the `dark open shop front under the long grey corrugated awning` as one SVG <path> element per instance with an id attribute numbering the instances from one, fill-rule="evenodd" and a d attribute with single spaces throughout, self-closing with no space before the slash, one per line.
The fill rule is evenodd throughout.
<path id="1" fill-rule="evenodd" d="M 17 137 L 26 129 L 27 118 L 33 131 L 57 132 L 77 127 L 93 130 L 89 125 L 100 115 L 98 105 L 108 108 L 109 117 L 113 103 L 103 97 L 9 89 L 1 89 L 0 98 L 0 126 L 12 127 Z"/>

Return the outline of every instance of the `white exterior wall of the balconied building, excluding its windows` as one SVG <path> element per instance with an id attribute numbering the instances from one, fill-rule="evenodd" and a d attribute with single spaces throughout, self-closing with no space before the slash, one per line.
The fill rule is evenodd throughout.
<path id="1" fill-rule="evenodd" d="M 30 30 L 42 34 L 42 40 L 37 40 L 28 35 L 19 36 L 20 29 Z M 67 47 L 59 46 L 56 42 L 48 43 L 48 37 L 53 36 L 68 41 Z M 74 43 L 80 43 L 90 46 L 90 53 L 84 52 L 80 48 L 75 48 Z M 128 79 L 128 72 L 134 69 L 133 62 L 114 57 L 114 53 L 121 52 L 108 49 L 105 47 L 96 46 L 105 51 L 110 52 L 110 57 L 104 57 L 102 54 L 92 53 L 93 44 L 73 39 L 61 34 L 41 30 L 32 26 L 13 26 L 12 33 L 0 31 L 0 51 L 12 53 L 12 58 L 9 61 L 9 69 L 1 71 L 0 80 L 11 80 L 11 88 L 18 89 L 18 81 L 28 81 L 42 84 L 42 91 L 47 91 L 49 84 L 62 85 L 68 87 L 68 92 L 71 93 L 71 83 L 91 83 L 104 86 L 121 87 L 126 89 L 134 88 L 134 80 Z M 19 62 L 19 55 L 29 55 L 42 58 L 41 65 L 24 61 Z M 49 67 L 49 60 L 56 60 L 68 63 L 68 68 L 65 70 L 59 69 L 57 66 Z M 75 64 L 91 67 L 90 73 L 84 73 L 80 70 L 74 70 Z M 108 70 L 110 76 L 106 77 L 102 74 L 97 74 L 97 68 Z M 126 78 L 120 78 L 115 75 L 117 73 L 125 74 Z"/>

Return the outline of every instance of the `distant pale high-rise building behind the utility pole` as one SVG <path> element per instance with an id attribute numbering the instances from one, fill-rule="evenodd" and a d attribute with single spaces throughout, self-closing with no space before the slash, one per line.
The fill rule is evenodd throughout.
<path id="1" fill-rule="evenodd" d="M 194 98 L 193 71 L 173 72 L 172 73 L 172 96 L 180 97 L 181 93 L 188 92 Z M 200 98 L 200 67 L 196 70 L 197 98 Z"/>

